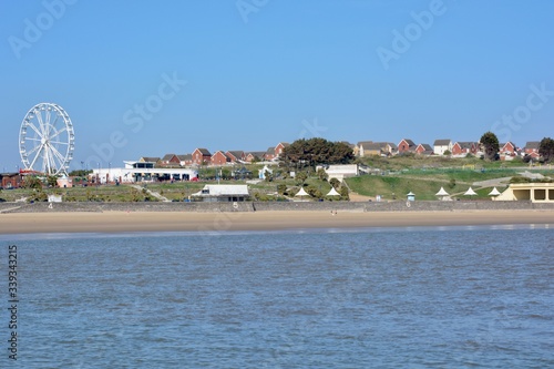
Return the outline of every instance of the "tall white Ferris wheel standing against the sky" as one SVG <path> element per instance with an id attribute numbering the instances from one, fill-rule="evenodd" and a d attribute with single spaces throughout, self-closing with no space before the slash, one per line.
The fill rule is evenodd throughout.
<path id="1" fill-rule="evenodd" d="M 31 107 L 19 131 L 19 153 L 25 170 L 47 175 L 68 174 L 74 142 L 73 124 L 58 104 Z"/>

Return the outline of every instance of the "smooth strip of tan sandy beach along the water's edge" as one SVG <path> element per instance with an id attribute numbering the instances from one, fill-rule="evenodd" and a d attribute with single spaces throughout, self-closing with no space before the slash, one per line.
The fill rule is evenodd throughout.
<path id="1" fill-rule="evenodd" d="M 547 224 L 554 211 L 514 212 L 256 212 L 256 213 L 12 213 L 0 214 L 0 234 L 279 230 Z"/>

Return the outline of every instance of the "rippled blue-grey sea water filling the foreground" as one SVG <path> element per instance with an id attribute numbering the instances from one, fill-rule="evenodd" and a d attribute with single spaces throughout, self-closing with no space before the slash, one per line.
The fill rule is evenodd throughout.
<path id="1" fill-rule="evenodd" d="M 554 230 L 1 236 L 0 367 L 554 367 Z M 11 360 L 13 361 L 13 360 Z"/>

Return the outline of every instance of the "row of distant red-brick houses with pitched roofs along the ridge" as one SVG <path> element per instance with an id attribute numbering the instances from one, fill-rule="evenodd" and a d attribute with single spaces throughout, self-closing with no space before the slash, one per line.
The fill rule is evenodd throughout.
<path id="1" fill-rule="evenodd" d="M 435 140 L 433 145 L 427 143 L 416 144 L 412 140 L 402 139 L 398 144 L 391 142 L 360 141 L 357 144 L 345 142 L 352 147 L 353 154 L 358 157 L 380 155 L 393 156 L 398 154 L 413 153 L 417 155 L 444 155 L 450 153 L 454 157 L 462 157 L 468 154 L 476 155 L 481 152 L 479 142 L 453 142 L 450 139 Z M 216 151 L 211 153 L 207 148 L 198 147 L 192 154 L 165 154 L 163 157 L 143 156 L 138 162 L 155 163 L 162 166 L 185 166 L 185 165 L 225 165 L 234 163 L 252 163 L 259 161 L 276 161 L 289 144 L 279 142 L 275 147 L 266 151 Z M 537 158 L 538 141 L 530 141 L 524 147 L 519 147 L 513 142 L 500 144 L 501 158 L 530 155 Z"/>

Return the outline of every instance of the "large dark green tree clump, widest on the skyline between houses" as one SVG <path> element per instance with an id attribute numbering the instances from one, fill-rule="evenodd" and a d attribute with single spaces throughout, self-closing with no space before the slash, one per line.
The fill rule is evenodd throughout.
<path id="1" fill-rule="evenodd" d="M 315 170 L 318 164 L 348 164 L 353 161 L 352 148 L 342 142 L 315 137 L 297 140 L 283 150 L 280 165 Z"/>

